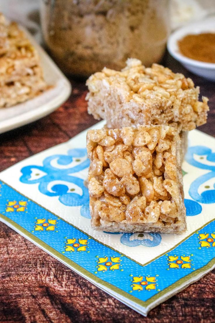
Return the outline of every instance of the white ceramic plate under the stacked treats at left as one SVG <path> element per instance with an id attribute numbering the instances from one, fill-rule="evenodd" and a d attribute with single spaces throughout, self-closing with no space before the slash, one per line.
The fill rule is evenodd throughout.
<path id="1" fill-rule="evenodd" d="M 46 54 L 34 38 L 20 26 L 39 53 L 44 78 L 52 89 L 45 91 L 34 99 L 16 104 L 10 108 L 0 109 L 0 133 L 38 120 L 57 109 L 70 95 L 71 85 L 53 60 Z"/>

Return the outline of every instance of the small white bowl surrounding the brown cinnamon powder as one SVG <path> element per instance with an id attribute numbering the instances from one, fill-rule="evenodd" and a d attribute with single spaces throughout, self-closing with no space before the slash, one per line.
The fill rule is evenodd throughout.
<path id="1" fill-rule="evenodd" d="M 178 40 L 189 34 L 215 33 L 215 17 L 201 20 L 180 29 L 171 34 L 167 42 L 169 53 L 177 59 L 185 68 L 194 74 L 215 81 L 215 63 L 200 62 L 180 54 Z"/>

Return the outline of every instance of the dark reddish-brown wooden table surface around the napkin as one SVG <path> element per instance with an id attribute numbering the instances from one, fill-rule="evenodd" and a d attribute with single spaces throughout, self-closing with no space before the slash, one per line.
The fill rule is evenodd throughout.
<path id="1" fill-rule="evenodd" d="M 215 137 L 214 84 L 168 55 L 164 65 L 200 86 L 210 101 L 206 125 Z M 96 121 L 87 114 L 84 81 L 72 80 L 70 98 L 49 116 L 0 135 L 0 171 L 65 142 Z M 5 224 L 0 223 L 0 322 L 215 322 L 215 270 L 152 309 L 147 318 L 93 286 Z"/>

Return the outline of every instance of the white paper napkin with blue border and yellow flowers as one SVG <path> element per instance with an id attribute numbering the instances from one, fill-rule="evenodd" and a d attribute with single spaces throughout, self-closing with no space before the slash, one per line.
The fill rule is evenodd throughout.
<path id="1" fill-rule="evenodd" d="M 215 266 L 215 139 L 198 130 L 189 134 L 182 165 L 188 229 L 181 235 L 92 230 L 85 145 L 83 131 L 1 172 L 0 219 L 147 315 Z"/>

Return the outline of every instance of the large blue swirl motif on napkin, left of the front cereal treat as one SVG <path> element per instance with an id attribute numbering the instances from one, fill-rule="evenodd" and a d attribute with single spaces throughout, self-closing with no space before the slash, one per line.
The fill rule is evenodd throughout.
<path id="1" fill-rule="evenodd" d="M 85 159 L 83 159 L 83 161 L 79 160 L 79 158 L 82 157 L 85 157 Z M 56 160 L 57 165 L 66 166 L 73 161 L 76 161 L 76 164 L 69 168 L 57 168 L 51 165 L 51 162 L 54 160 Z M 20 181 L 25 184 L 39 183 L 38 189 L 41 193 L 47 196 L 58 196 L 59 201 L 67 206 L 82 206 L 80 211 L 81 215 L 90 218 L 88 189 L 84 186 L 83 179 L 72 175 L 73 173 L 88 168 L 89 163 L 86 149 L 70 149 L 67 152 L 67 155 L 52 155 L 45 158 L 43 166 L 29 165 L 23 167 L 21 169 L 23 175 L 20 177 Z M 42 171 L 44 175 L 38 179 L 31 179 L 32 169 L 36 169 L 38 172 Z M 63 181 L 65 184 L 55 184 L 51 186 L 51 189 L 49 190 L 48 184 L 53 181 Z M 68 184 L 66 183 L 73 183 L 80 187 L 82 195 L 75 193 L 75 190 L 69 190 Z"/>

